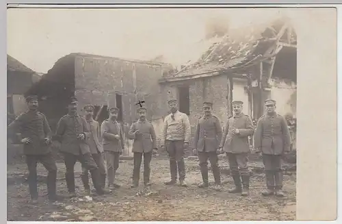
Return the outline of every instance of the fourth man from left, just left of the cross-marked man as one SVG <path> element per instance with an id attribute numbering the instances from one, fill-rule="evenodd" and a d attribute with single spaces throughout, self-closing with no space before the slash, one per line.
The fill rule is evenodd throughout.
<path id="1" fill-rule="evenodd" d="M 115 184 L 116 170 L 119 168 L 119 158 L 124 149 L 123 131 L 120 123 L 118 123 L 118 108 L 111 107 L 108 110 L 109 119 L 101 124 L 101 134 L 103 138 L 103 149 L 105 150 L 105 158 L 107 161 L 107 177 L 110 190 L 120 188 Z"/>

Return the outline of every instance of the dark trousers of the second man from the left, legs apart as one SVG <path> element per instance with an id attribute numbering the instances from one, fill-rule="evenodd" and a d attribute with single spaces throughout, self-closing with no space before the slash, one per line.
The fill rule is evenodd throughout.
<path id="1" fill-rule="evenodd" d="M 90 171 L 92 176 L 92 183 L 97 192 L 102 191 L 101 176 L 98 171 L 98 167 L 91 153 L 74 155 L 72 153 L 64 153 L 64 163 L 66 166 L 66 186 L 70 193 L 75 192 L 75 164 L 79 160 L 82 166 L 86 167 Z"/>

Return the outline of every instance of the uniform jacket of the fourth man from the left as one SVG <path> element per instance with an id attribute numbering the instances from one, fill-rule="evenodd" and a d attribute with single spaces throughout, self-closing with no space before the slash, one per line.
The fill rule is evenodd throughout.
<path id="1" fill-rule="evenodd" d="M 119 135 L 120 139 L 114 138 Z M 103 138 L 103 150 L 105 151 L 122 151 L 124 149 L 123 131 L 118 121 L 107 119 L 101 124 L 101 135 Z"/>

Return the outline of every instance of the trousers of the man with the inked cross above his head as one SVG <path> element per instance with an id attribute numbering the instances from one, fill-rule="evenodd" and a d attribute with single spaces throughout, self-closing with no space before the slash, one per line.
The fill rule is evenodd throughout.
<path id="1" fill-rule="evenodd" d="M 134 153 L 133 183 L 138 184 L 140 179 L 140 166 L 142 164 L 142 155 L 144 155 L 144 183 L 150 182 L 150 160 L 152 159 L 152 151 L 148 153 Z"/>

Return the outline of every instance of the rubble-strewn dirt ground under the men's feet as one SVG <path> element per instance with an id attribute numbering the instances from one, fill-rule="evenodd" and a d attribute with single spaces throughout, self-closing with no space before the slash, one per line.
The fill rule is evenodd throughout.
<path id="1" fill-rule="evenodd" d="M 27 167 L 25 164 L 8 165 L 8 221 L 291 221 L 295 220 L 295 168 L 287 166 L 284 175 L 284 191 L 287 197 L 263 197 L 260 192 L 265 187 L 261 162 L 250 162 L 253 175 L 250 180 L 250 196 L 228 194 L 233 180 L 228 175 L 226 158 L 220 160 L 222 169 L 222 191 L 211 188 L 200 189 L 201 181 L 198 161 L 188 158 L 187 188 L 165 186 L 170 178 L 167 158 L 153 158 L 151 162 L 151 182 L 153 186 L 130 189 L 133 161 L 120 162 L 118 184 L 122 187 L 111 195 L 64 199 L 62 203 L 47 201 L 45 175 L 47 172 L 38 164 L 38 205 L 29 200 Z M 64 164 L 58 163 L 57 191 L 67 195 L 64 179 Z M 83 194 L 79 177 L 81 166 L 75 168 L 76 185 Z M 142 171 L 142 170 L 141 170 Z M 141 174 L 142 178 L 142 174 Z M 209 171 L 209 180 L 213 175 Z"/>

